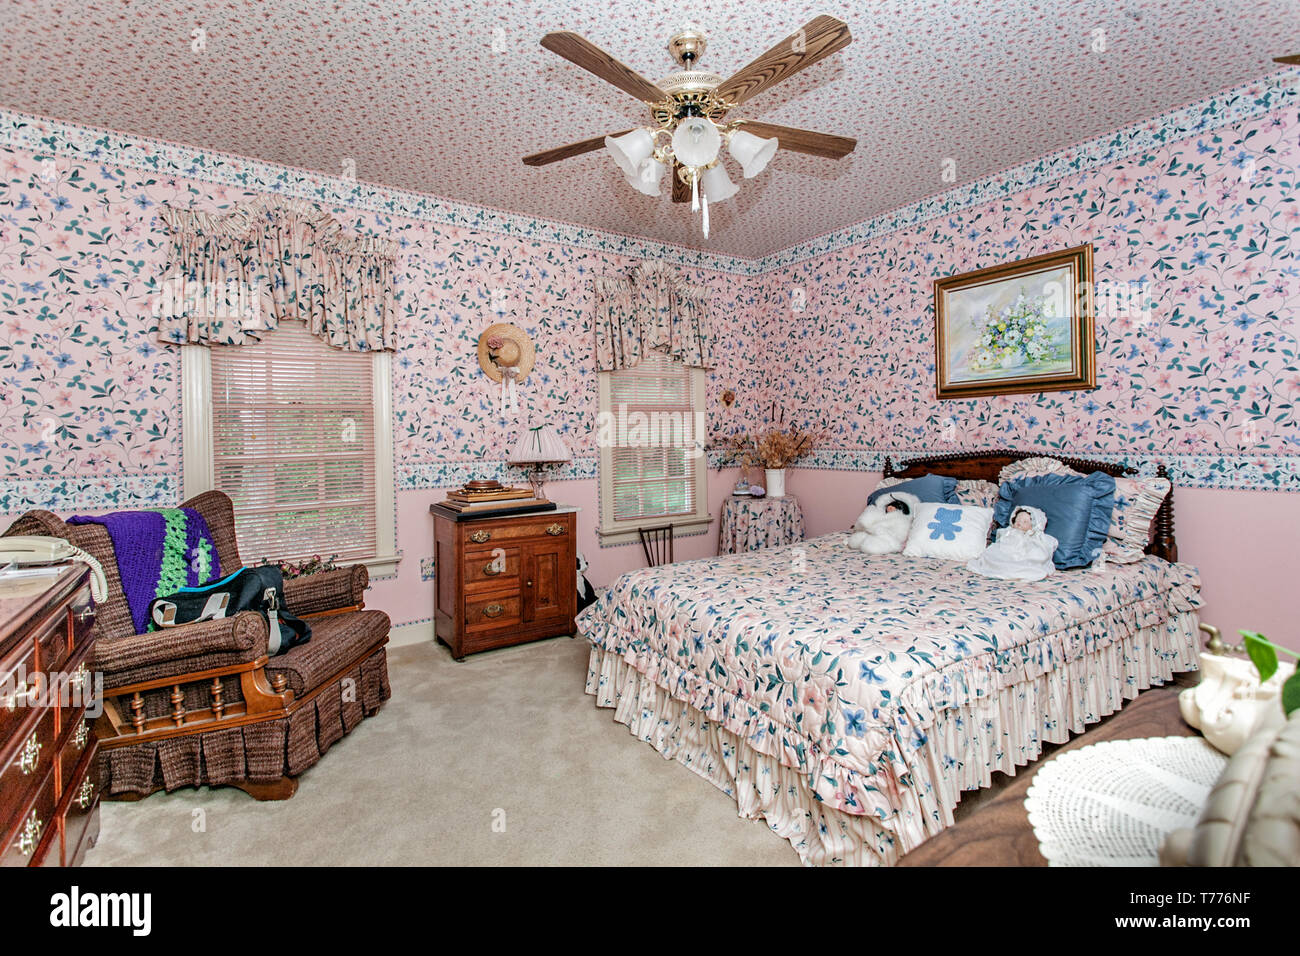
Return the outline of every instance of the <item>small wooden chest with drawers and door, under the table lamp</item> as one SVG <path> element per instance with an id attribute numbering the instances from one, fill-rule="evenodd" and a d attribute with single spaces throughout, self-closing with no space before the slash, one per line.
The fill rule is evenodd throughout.
<path id="1" fill-rule="evenodd" d="M 433 514 L 434 632 L 458 661 L 573 633 L 577 514 L 454 520 Z"/>

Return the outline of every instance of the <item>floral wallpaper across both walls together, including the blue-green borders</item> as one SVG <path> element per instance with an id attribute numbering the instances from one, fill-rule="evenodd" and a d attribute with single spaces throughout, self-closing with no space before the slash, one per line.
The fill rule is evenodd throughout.
<path id="1" fill-rule="evenodd" d="M 525 414 L 595 473 L 590 278 L 640 258 L 714 289 L 714 429 L 820 418 L 814 464 L 1041 447 L 1169 463 L 1180 484 L 1300 490 L 1300 82 L 1270 81 L 763 260 L 597 233 L 0 111 L 0 514 L 173 503 L 179 362 L 153 338 L 162 203 L 318 202 L 402 245 L 399 490 L 502 470 L 515 423 L 473 342 L 523 325 Z M 936 402 L 931 282 L 1096 247 L 1098 388 Z M 502 315 L 503 313 L 503 315 Z M 718 405 L 723 388 L 736 408 Z"/>

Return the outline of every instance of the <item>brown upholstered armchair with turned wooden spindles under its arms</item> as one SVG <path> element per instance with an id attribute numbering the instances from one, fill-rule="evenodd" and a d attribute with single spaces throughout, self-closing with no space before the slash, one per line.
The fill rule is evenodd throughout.
<path id="1" fill-rule="evenodd" d="M 222 572 L 243 562 L 234 507 L 221 492 L 185 502 L 212 532 Z M 94 667 L 104 676 L 95 724 L 108 799 L 230 786 L 285 800 L 312 766 L 390 696 L 389 617 L 364 610 L 364 566 L 285 581 L 285 604 L 309 618 L 312 639 L 268 657 L 266 622 L 252 611 L 135 633 L 108 531 L 29 511 L 6 535 L 62 537 L 95 555 L 108 579 L 96 609 Z"/>

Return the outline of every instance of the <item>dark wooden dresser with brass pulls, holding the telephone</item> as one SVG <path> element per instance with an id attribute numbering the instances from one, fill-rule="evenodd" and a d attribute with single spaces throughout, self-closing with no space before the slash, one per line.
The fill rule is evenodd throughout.
<path id="1" fill-rule="evenodd" d="M 84 564 L 0 579 L 0 849 L 3 866 L 75 866 L 99 838 Z"/>

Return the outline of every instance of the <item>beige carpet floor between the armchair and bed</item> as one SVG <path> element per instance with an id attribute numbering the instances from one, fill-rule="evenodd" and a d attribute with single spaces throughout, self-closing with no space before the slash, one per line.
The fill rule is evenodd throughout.
<path id="1" fill-rule="evenodd" d="M 105 803 L 86 865 L 797 866 L 785 840 L 593 705 L 588 646 L 562 637 L 465 663 L 442 645 L 395 648 L 393 700 L 291 800 L 217 788 Z"/>

